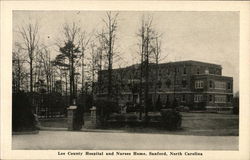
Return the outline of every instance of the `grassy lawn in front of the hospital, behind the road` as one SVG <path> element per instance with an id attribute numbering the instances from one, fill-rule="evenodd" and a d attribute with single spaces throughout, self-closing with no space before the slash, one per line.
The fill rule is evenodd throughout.
<path id="1" fill-rule="evenodd" d="M 133 113 L 132 113 L 133 114 Z M 151 113 L 151 115 L 160 115 Z M 150 115 L 150 114 L 149 114 Z M 200 135 L 200 136 L 238 136 L 239 135 L 239 116 L 232 114 L 218 113 L 188 113 L 181 112 L 182 126 L 178 131 L 166 131 L 155 127 L 120 127 L 107 128 L 122 130 L 131 133 L 163 133 L 163 134 L 180 134 L 180 135 Z M 84 117 L 85 124 L 90 123 L 90 116 Z M 67 119 L 58 118 L 50 120 L 41 120 L 41 126 L 53 128 L 67 128 Z"/>

